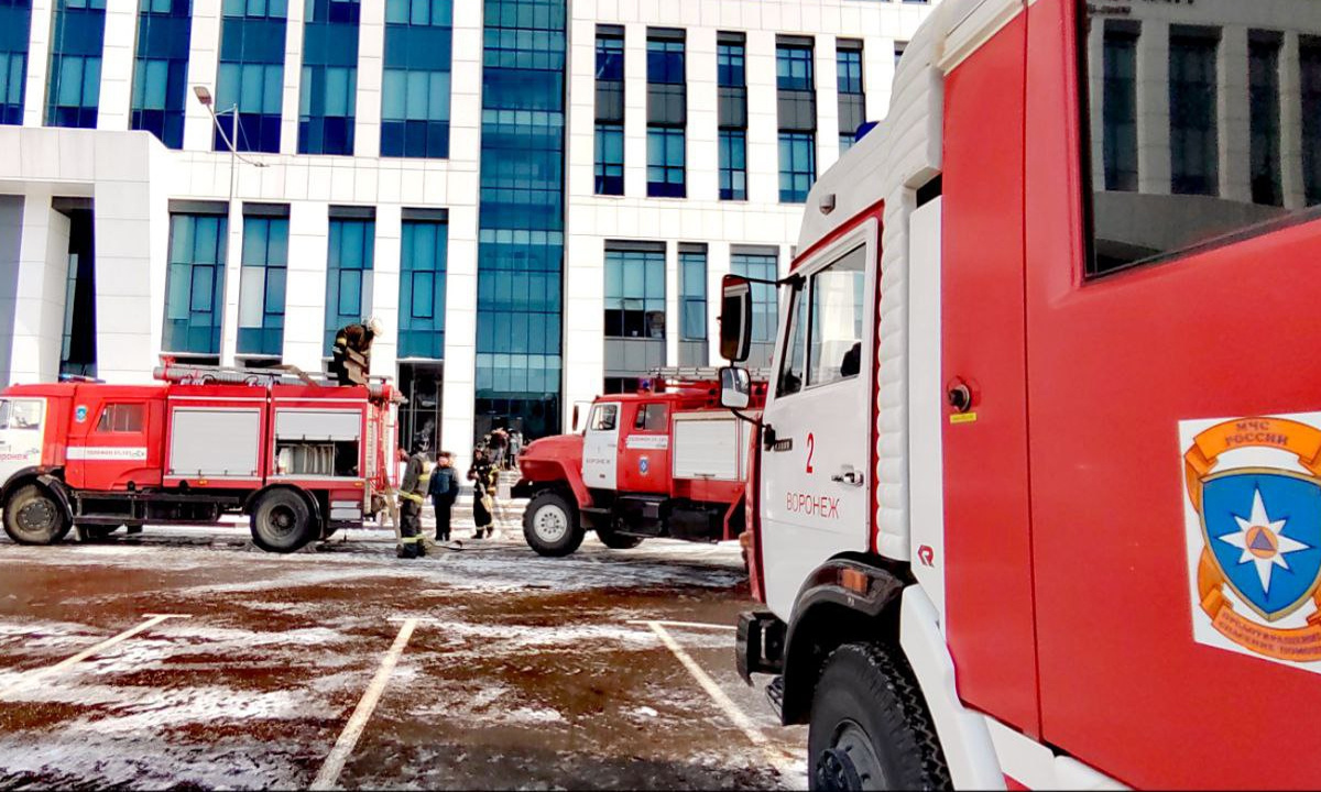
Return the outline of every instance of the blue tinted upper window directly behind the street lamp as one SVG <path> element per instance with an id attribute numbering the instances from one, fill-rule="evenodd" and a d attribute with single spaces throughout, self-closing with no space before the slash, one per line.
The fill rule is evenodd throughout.
<path id="1" fill-rule="evenodd" d="M 221 63 L 215 81 L 219 127 L 215 150 L 225 137 L 240 152 L 280 150 L 280 108 L 284 103 L 284 36 L 287 0 L 225 0 L 221 20 Z M 238 128 L 234 110 L 238 111 Z"/>

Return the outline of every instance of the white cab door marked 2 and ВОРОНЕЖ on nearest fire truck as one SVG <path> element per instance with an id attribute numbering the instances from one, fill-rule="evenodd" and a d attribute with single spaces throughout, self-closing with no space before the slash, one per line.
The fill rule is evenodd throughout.
<path id="1" fill-rule="evenodd" d="M 761 457 L 766 579 L 803 581 L 838 553 L 871 545 L 867 393 L 871 296 L 878 223 L 869 219 L 804 260 L 783 289 L 778 378 L 764 413 L 775 444 Z M 875 272 L 875 269 L 873 269 Z M 768 590 L 790 612 L 795 587 Z"/>

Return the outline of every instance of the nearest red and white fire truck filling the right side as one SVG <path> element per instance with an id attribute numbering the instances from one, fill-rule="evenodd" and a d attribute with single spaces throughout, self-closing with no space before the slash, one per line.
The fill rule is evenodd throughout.
<path id="1" fill-rule="evenodd" d="M 946 0 L 908 46 L 808 197 L 749 484 L 738 661 L 814 787 L 1321 781 L 1318 36 Z"/>

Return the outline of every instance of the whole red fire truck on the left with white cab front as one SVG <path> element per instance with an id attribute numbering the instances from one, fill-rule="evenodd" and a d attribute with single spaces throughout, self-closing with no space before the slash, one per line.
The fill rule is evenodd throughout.
<path id="1" fill-rule="evenodd" d="M 242 513 L 254 544 L 289 553 L 380 510 L 402 401 L 388 381 L 169 360 L 156 379 L 0 391 L 11 539 L 103 539 Z"/>

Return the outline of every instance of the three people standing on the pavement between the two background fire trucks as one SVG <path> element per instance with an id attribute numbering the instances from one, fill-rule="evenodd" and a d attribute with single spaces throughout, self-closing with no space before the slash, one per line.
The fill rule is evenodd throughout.
<path id="1" fill-rule="evenodd" d="M 402 451 L 400 451 L 402 453 Z M 450 540 L 450 520 L 454 503 L 458 502 L 460 483 L 454 471 L 454 455 L 449 451 L 436 454 L 431 461 L 431 440 L 419 436 L 407 454 L 403 478 L 399 482 L 399 513 L 395 520 L 399 533 L 398 556 L 419 558 L 427 554 L 421 536 L 421 510 L 431 499 L 436 511 L 436 541 Z M 468 470 L 468 480 L 473 483 L 473 539 L 489 539 L 495 532 L 495 496 L 499 488 L 499 467 L 491 454 L 482 447 L 473 451 L 473 466 Z M 394 516 L 394 515 L 391 515 Z"/>

